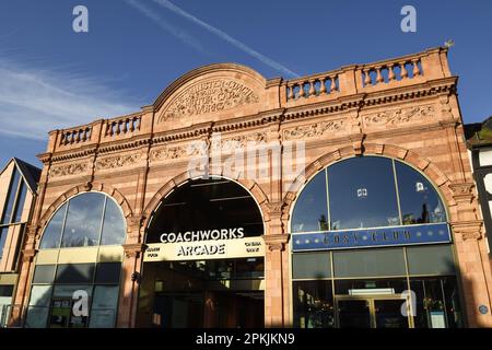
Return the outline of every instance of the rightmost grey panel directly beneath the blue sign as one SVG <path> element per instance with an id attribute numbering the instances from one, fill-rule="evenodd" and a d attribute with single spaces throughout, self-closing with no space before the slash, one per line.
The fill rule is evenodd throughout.
<path id="1" fill-rule="evenodd" d="M 410 275 L 454 275 L 455 262 L 450 245 L 407 248 Z"/>

